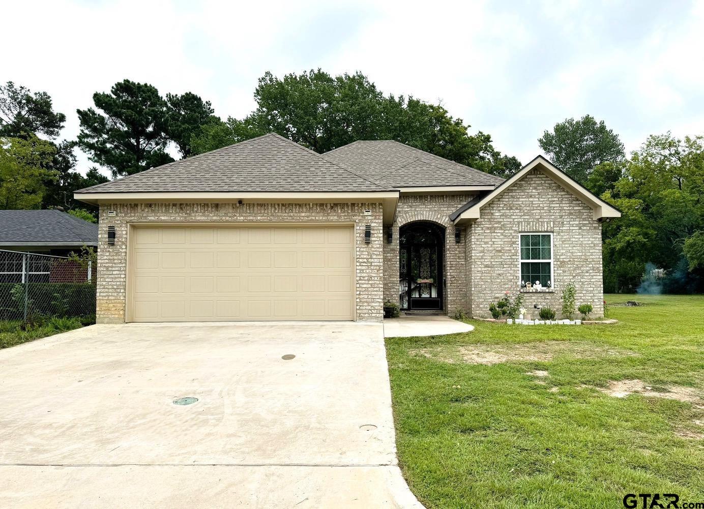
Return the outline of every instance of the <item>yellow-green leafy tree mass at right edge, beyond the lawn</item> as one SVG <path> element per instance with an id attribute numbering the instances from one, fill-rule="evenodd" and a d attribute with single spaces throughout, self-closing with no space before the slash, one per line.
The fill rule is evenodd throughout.
<path id="1" fill-rule="evenodd" d="M 701 141 L 701 137 L 677 139 L 670 133 L 650 136 L 629 160 L 617 166 L 620 178 L 602 195 L 622 210 L 622 218 L 605 223 L 602 230 L 608 291 L 636 289 L 646 263 L 665 269 L 666 279 L 672 281 L 666 280 L 663 287 L 670 291 L 694 291 L 700 284 L 698 274 L 686 274 L 683 260 L 696 256 L 696 232 L 704 230 Z M 590 181 L 600 168 L 615 171 L 608 164 L 601 165 Z M 699 270 L 698 264 L 689 263 Z M 687 277 L 691 281 L 685 281 Z"/>

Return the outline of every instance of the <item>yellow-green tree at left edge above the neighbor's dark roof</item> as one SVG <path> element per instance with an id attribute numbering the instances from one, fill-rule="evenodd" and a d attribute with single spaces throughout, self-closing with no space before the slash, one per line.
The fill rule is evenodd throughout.
<path id="1" fill-rule="evenodd" d="M 1 208 L 39 208 L 44 180 L 54 175 L 46 168 L 55 152 L 53 144 L 33 134 L 27 139 L 0 137 Z"/>

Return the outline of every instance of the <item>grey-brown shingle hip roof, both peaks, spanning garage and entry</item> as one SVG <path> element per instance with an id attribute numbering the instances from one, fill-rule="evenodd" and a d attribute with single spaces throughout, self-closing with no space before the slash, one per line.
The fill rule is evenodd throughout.
<path id="1" fill-rule="evenodd" d="M 270 133 L 76 192 L 354 192 L 501 182 L 399 142 L 354 142 L 321 156 Z"/>

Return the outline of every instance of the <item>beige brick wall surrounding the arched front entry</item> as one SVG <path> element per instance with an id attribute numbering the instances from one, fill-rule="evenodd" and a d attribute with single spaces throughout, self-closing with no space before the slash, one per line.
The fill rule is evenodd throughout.
<path id="1" fill-rule="evenodd" d="M 465 229 L 462 228 L 462 241 L 455 244 L 455 227 L 449 215 L 470 201 L 473 194 L 457 195 L 401 195 L 396 208 L 394 221 L 394 241 L 391 244 L 384 238 L 384 301 L 398 303 L 398 230 L 414 221 L 433 221 L 446 228 L 444 277 L 444 310 L 453 315 L 458 309 L 467 309 L 467 280 L 465 265 Z M 386 237 L 386 232 L 384 232 Z"/>

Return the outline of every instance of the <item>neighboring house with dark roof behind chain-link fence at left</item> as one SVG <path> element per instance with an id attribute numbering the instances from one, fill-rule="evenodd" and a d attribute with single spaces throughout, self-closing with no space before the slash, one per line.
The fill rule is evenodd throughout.
<path id="1" fill-rule="evenodd" d="M 84 282 L 86 268 L 58 263 L 56 256 L 80 253 L 83 246 L 98 247 L 98 225 L 61 210 L 0 210 L 0 283 L 23 282 L 29 272 L 32 282 Z M 6 251 L 51 255 L 31 258 Z"/>

